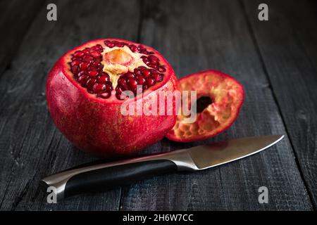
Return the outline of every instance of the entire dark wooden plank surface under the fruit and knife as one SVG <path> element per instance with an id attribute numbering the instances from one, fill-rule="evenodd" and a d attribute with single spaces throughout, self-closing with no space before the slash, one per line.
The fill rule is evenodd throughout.
<path id="1" fill-rule="evenodd" d="M 56 22 L 46 20 L 51 1 L 24 2 L 0 1 L 0 27 L 8 30 L 0 54 L 1 210 L 316 210 L 314 1 L 266 1 L 266 22 L 257 19 L 261 1 L 251 0 L 61 0 L 53 1 Z M 39 179 L 95 160 L 54 127 L 44 96 L 47 73 L 68 49 L 105 37 L 153 46 L 178 77 L 213 68 L 246 89 L 240 116 L 228 131 L 187 144 L 163 139 L 142 154 L 260 134 L 285 139 L 214 169 L 46 203 Z M 260 186 L 268 187 L 268 204 L 258 202 Z"/>

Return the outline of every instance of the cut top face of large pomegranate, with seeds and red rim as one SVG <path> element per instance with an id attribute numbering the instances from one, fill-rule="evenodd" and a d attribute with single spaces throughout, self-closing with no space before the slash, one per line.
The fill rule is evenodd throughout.
<path id="1" fill-rule="evenodd" d="M 137 86 L 145 95 L 159 89 L 174 74 L 158 51 L 121 39 L 89 41 L 68 51 L 61 61 L 63 74 L 97 101 L 120 103 L 128 97 L 124 91 L 136 95 Z"/>

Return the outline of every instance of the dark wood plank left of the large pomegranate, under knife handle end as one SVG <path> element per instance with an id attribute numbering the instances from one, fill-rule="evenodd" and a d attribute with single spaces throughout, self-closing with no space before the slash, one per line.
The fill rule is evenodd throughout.
<path id="1" fill-rule="evenodd" d="M 54 1 L 58 20 L 44 8 L 32 23 L 12 67 L 0 83 L 0 209 L 118 210 L 120 188 L 46 203 L 39 180 L 94 160 L 56 130 L 46 108 L 46 77 L 64 52 L 92 39 L 136 40 L 138 1 Z M 46 1 L 46 4 L 51 1 Z M 122 16 L 125 15 L 125 16 Z"/>

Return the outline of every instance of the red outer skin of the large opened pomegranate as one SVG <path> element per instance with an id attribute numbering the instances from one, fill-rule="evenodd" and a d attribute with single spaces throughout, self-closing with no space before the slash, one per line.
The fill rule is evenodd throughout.
<path id="1" fill-rule="evenodd" d="M 99 44 L 104 40 L 88 43 Z M 82 46 L 62 56 L 49 72 L 46 99 L 56 127 L 80 150 L 103 157 L 136 153 L 163 139 L 174 126 L 176 115 L 123 115 L 120 112 L 123 101 L 114 98 L 96 98 L 72 79 L 67 60 Z M 151 49 L 151 51 L 155 50 Z M 159 54 L 157 51 L 155 53 Z M 147 104 L 150 96 L 159 97 L 159 91 L 178 89 L 173 68 L 163 56 L 160 59 L 168 67 L 164 81 L 144 92 L 143 98 L 136 97 L 136 101 Z M 173 107 L 175 108 L 175 102 Z"/>

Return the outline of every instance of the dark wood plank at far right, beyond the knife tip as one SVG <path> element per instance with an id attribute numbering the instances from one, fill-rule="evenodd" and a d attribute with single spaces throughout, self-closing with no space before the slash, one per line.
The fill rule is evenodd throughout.
<path id="1" fill-rule="evenodd" d="M 267 1 L 269 20 L 265 23 L 254 15 L 259 3 L 244 1 L 263 65 L 316 209 L 316 2 Z"/>

